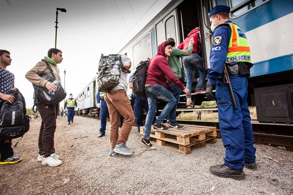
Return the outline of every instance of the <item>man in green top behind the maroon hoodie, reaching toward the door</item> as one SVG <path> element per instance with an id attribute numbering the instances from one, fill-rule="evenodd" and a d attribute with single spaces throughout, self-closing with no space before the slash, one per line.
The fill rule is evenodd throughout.
<path id="1" fill-rule="evenodd" d="M 167 42 L 169 42 L 169 41 L 174 41 L 174 39 L 173 38 L 167 39 Z M 181 71 L 182 68 L 181 68 L 180 58 L 183 56 L 190 56 L 192 54 L 194 44 L 195 44 L 195 41 L 190 40 L 187 50 L 181 50 L 179 48 L 173 47 L 171 56 L 167 57 L 168 64 L 169 64 L 172 72 L 174 73 L 174 75 L 178 79 L 181 79 L 183 77 L 182 71 Z M 171 92 L 171 94 L 177 100 L 177 104 L 179 104 L 181 88 L 174 85 L 174 83 L 169 80 L 168 90 L 169 90 L 169 92 Z M 177 121 L 176 121 L 177 104 L 176 104 L 176 106 L 174 106 L 174 108 L 171 110 L 171 112 L 168 116 L 169 127 L 183 129 L 184 125 L 177 124 Z"/>

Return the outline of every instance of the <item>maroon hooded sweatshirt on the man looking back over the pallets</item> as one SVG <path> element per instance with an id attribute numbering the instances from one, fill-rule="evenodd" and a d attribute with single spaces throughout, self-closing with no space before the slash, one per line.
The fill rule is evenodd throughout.
<path id="1" fill-rule="evenodd" d="M 151 84 L 160 84 L 168 88 L 169 78 L 176 86 L 184 89 L 184 85 L 180 80 L 174 75 L 170 66 L 168 65 L 166 56 L 165 56 L 165 42 L 163 42 L 158 47 L 157 55 L 149 60 L 149 66 L 146 74 L 146 85 Z"/>

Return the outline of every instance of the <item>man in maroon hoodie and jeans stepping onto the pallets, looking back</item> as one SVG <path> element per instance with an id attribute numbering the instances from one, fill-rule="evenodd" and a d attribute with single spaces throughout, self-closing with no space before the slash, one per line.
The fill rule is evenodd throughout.
<path id="1" fill-rule="evenodd" d="M 167 131 L 170 127 L 163 125 L 165 118 L 169 115 L 177 100 L 168 91 L 168 80 L 171 80 L 176 86 L 180 87 L 186 95 L 189 95 L 189 90 L 180 82 L 174 75 L 168 65 L 166 57 L 171 56 L 174 41 L 164 41 L 159 47 L 155 57 L 149 60 L 149 67 L 146 74 L 146 97 L 148 101 L 148 112 L 146 116 L 145 134 L 141 143 L 151 147 L 150 143 L 150 128 L 152 120 L 156 114 L 157 100 L 161 99 L 167 102 L 162 113 L 154 124 L 156 131 Z"/>

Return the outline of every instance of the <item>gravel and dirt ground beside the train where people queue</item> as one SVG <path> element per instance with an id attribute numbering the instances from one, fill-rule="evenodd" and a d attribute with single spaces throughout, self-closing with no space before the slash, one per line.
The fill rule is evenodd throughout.
<path id="1" fill-rule="evenodd" d="M 100 120 L 75 117 L 67 125 L 58 118 L 56 153 L 63 165 L 55 168 L 36 161 L 37 135 L 41 120 L 31 122 L 31 130 L 15 148 L 21 163 L 0 166 L 0 194 L 72 195 L 292 195 L 293 153 L 272 146 L 255 145 L 259 169 L 244 169 L 246 179 L 238 181 L 213 176 L 209 166 L 222 163 L 223 142 L 192 148 L 191 154 L 139 144 L 133 127 L 127 146 L 132 156 L 109 156 L 109 122 L 105 137 L 98 138 Z M 24 156 L 24 154 L 26 154 Z M 5 176 L 3 177 L 3 174 Z M 67 182 L 68 181 L 68 182 Z"/>

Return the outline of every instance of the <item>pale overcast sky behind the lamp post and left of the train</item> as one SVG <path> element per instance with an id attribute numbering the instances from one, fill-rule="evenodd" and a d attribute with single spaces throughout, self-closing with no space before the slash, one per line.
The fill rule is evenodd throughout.
<path id="1" fill-rule="evenodd" d="M 11 53 L 7 70 L 33 106 L 26 72 L 55 47 L 63 52 L 60 75 L 67 96 L 76 97 L 96 76 L 101 54 L 117 53 L 171 0 L 0 0 L 0 49 Z M 62 102 L 63 103 L 63 102 Z M 62 107 L 62 106 L 61 106 Z"/>

